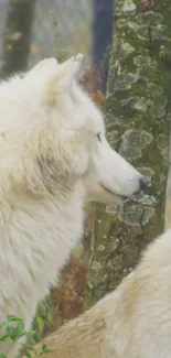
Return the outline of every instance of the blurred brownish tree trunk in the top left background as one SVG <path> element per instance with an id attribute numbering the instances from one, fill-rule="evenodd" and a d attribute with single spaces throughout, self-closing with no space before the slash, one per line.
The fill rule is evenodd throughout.
<path id="1" fill-rule="evenodd" d="M 10 0 L 3 37 L 1 77 L 24 70 L 31 47 L 36 0 Z"/>

